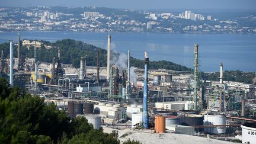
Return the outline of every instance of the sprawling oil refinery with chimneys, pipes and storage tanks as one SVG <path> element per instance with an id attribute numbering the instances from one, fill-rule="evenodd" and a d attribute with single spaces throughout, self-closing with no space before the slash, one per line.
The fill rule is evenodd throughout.
<path id="1" fill-rule="evenodd" d="M 130 50 L 125 66 L 120 66 L 112 59 L 111 36 L 106 38 L 107 68 L 100 66 L 103 56 L 98 51 L 96 66 L 87 66 L 85 53 L 77 69 L 62 63 L 62 47 L 58 47 L 52 63 L 39 62 L 36 49 L 43 43 L 22 41 L 19 35 L 17 44 L 10 41 L 9 58 L 4 59 L 1 53 L 1 77 L 7 74 L 11 87 L 25 88 L 31 95 L 44 98 L 46 104 L 55 103 L 70 117 L 86 117 L 94 129 L 117 130 L 121 138 L 160 143 L 171 137 L 181 140 L 178 136 L 183 135 L 187 142 L 176 143 L 191 139 L 199 143 L 209 139 L 209 143 L 256 143 L 254 85 L 225 81 L 225 63 L 216 69 L 220 71 L 219 81 L 202 78 L 199 44 L 194 44 L 194 71 L 177 72 L 151 69 L 147 52 L 145 68 L 134 68 Z M 33 58 L 20 55 L 21 44 L 34 46 Z M 156 141 L 149 141 L 151 137 Z"/>

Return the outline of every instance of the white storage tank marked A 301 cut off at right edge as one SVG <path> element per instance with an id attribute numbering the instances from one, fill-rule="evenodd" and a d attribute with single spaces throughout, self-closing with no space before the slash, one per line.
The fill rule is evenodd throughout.
<path id="1" fill-rule="evenodd" d="M 242 124 L 242 143 L 256 143 L 256 123 Z"/>

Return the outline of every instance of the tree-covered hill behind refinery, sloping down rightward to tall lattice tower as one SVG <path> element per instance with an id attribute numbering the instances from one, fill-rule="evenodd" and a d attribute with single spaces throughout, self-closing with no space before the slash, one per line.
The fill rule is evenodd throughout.
<path id="1" fill-rule="evenodd" d="M 61 62 L 65 64 L 72 64 L 76 68 L 79 67 L 80 58 L 87 55 L 87 65 L 97 65 L 97 51 L 100 50 L 100 66 L 107 66 L 107 50 L 101 49 L 100 47 L 93 46 L 92 44 L 84 43 L 82 41 L 76 41 L 71 39 L 57 40 L 55 43 L 49 41 L 41 41 L 47 46 L 52 46 L 52 49 L 46 49 L 41 46 L 41 49 L 37 50 L 37 59 L 40 62 L 52 62 L 53 57 L 57 57 L 57 48 L 60 48 Z M 17 57 L 17 46 L 14 47 L 14 57 Z M 9 53 L 9 43 L 0 44 L 0 49 L 4 49 L 5 57 Z M 34 57 L 34 47 L 31 46 L 21 49 L 21 55 Z M 119 57 L 120 53 L 113 53 L 114 57 Z M 125 57 L 127 58 L 127 57 Z M 124 61 L 126 63 L 126 61 Z M 144 68 L 143 60 L 130 57 L 130 66 L 136 68 Z M 192 69 L 185 66 L 178 65 L 176 63 L 168 62 L 165 60 L 151 61 L 149 69 L 169 69 L 173 71 L 192 71 Z"/>

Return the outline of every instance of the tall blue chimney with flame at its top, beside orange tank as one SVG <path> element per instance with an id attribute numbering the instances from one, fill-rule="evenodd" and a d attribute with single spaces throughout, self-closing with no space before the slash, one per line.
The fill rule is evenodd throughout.
<path id="1" fill-rule="evenodd" d="M 145 74 L 144 74 L 144 85 L 143 85 L 143 114 L 142 123 L 143 128 L 149 128 L 149 116 L 148 116 L 148 63 L 149 58 L 145 52 Z"/>

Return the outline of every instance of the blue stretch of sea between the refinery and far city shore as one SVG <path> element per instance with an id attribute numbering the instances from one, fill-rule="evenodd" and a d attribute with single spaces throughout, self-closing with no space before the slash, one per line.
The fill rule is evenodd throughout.
<path id="1" fill-rule="evenodd" d="M 106 49 L 107 35 L 111 48 L 143 59 L 145 50 L 150 60 L 169 60 L 193 68 L 194 44 L 199 44 L 200 69 L 204 72 L 225 70 L 256 72 L 256 34 L 166 34 L 166 33 L 89 33 L 21 31 L 21 39 L 56 41 L 81 40 Z M 18 32 L 0 33 L 0 43 L 13 39 Z"/>

